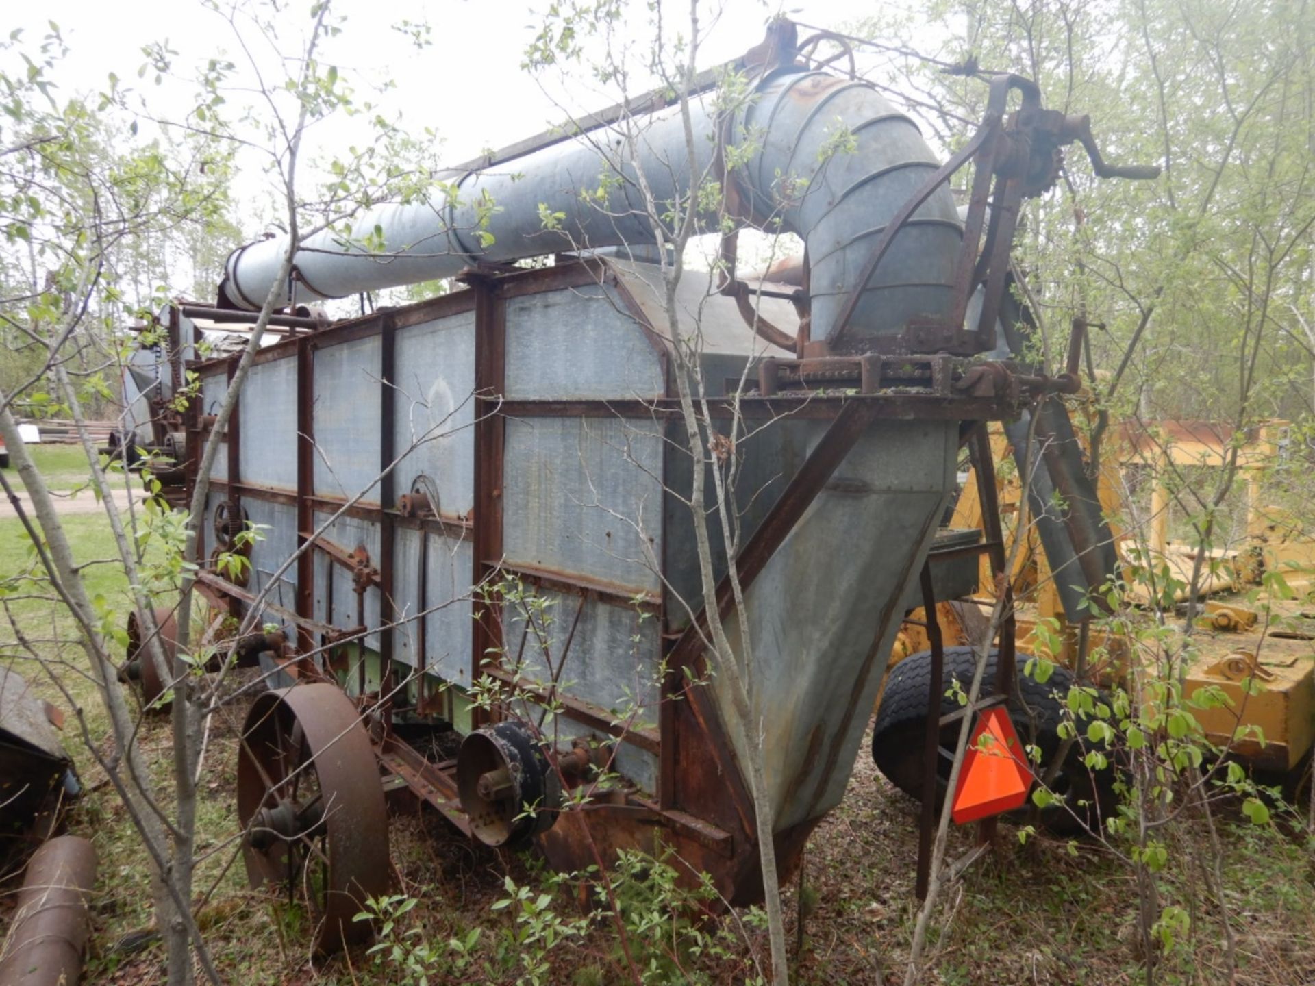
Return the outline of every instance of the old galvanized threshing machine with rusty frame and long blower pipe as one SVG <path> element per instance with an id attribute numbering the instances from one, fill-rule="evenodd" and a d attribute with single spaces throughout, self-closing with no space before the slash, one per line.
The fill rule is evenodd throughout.
<path id="1" fill-rule="evenodd" d="M 715 602 L 751 682 L 788 876 L 844 793 L 894 634 L 924 598 L 961 443 L 1076 385 L 990 355 L 1019 205 L 1074 141 L 1102 176 L 1153 170 L 1106 166 L 1086 117 L 1044 109 L 1013 75 L 989 79 L 980 129 L 940 163 L 876 88 L 801 54 L 815 42 L 773 25 L 738 64 L 743 106 L 692 93 L 692 145 L 654 96 L 583 138 L 473 162 L 450 176 L 455 196 L 376 208 L 355 227 L 381 250 L 321 233 L 276 284 L 287 238 L 241 247 L 214 305 L 162 313 L 170 358 L 132 368 L 121 444 L 167 450 L 164 480 L 189 493 L 239 359 L 195 347 L 241 333 L 275 292 L 283 338 L 218 435 L 201 556 L 247 523 L 263 538 L 245 585 L 200 578 L 267 630 L 239 642 L 279 685 L 241 752 L 247 870 L 317 868 L 321 945 L 360 931 L 359 901 L 388 883 L 389 787 L 485 843 L 535 839 L 558 868 L 661 841 L 726 899 L 760 897 L 744 731 L 705 652 L 694 471 L 732 456 L 739 473 L 743 619 L 721 550 Z M 827 153 L 836 128 L 851 146 Z M 969 163 L 961 217 L 949 179 Z M 748 285 L 731 266 L 668 297 L 654 216 L 707 179 L 743 225 L 803 241 L 802 287 Z M 510 266 L 531 256 L 551 263 Z M 333 323 L 299 314 L 434 279 L 455 289 Z M 689 451 L 676 347 L 697 360 L 707 461 Z M 184 371 L 200 394 L 178 414 Z M 718 444 L 735 414 L 746 426 Z"/>

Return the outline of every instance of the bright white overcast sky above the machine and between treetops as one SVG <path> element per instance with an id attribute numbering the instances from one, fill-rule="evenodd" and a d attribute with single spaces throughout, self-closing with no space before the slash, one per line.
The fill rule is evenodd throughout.
<path id="1" fill-rule="evenodd" d="M 871 14 L 872 0 L 719 0 L 719 18 L 702 38 L 700 67 L 719 64 L 743 54 L 763 39 L 767 21 L 784 12 L 796 21 L 823 28 L 843 29 Z M 292 0 L 287 8 L 289 30 L 280 38 L 285 54 L 301 51 L 299 32 L 309 25 L 312 0 Z M 544 76 L 540 85 L 522 70 L 527 43 L 542 22 L 550 0 L 510 3 L 505 0 L 334 0 L 333 11 L 347 18 L 343 33 L 321 49 L 321 62 L 335 64 L 356 89 L 358 99 L 375 99 L 389 118 L 397 116 L 410 133 L 431 128 L 442 139 L 441 160 L 456 164 L 476 156 L 481 150 L 501 147 L 539 133 L 564 118 L 554 105 L 559 100 L 572 114 L 598 109 L 615 101 L 617 93 L 598 91 L 589 80 L 575 79 L 560 85 L 556 76 Z M 705 4 L 711 5 L 711 4 Z M 906 7 L 906 0 L 886 0 L 884 9 Z M 635 20 L 642 20 L 646 0 L 635 0 Z M 667 0 L 668 22 L 688 24 L 688 3 Z M 213 12 L 197 0 L 37 0 L 8 7 L 7 30 L 22 28 L 25 39 L 34 43 L 55 21 L 71 47 L 60 66 L 60 84 L 66 91 L 96 91 L 105 85 L 109 72 L 147 95 L 162 116 L 181 118 L 191 108 L 195 87 L 167 83 L 154 87 L 151 76 L 137 78 L 145 58 L 146 42 L 167 39 L 178 51 L 180 75 L 189 75 L 183 66 L 203 64 L 205 59 L 225 54 L 242 62 L 233 33 Z M 417 50 L 392 25 L 404 20 L 427 21 L 433 26 L 433 45 Z M 630 25 L 643 30 L 642 25 Z M 803 32 L 805 34 L 807 32 Z M 936 39 L 928 38 L 930 43 Z M 292 71 L 292 70 L 288 70 Z M 392 79 L 396 88 L 383 97 L 370 92 L 368 83 Z M 634 91 L 647 87 L 635 85 Z M 548 88 L 548 92 L 544 91 Z M 552 95 L 550 95 L 550 92 Z M 171 105 L 172 104 L 172 105 Z M 143 131 L 149 133 L 149 131 Z M 351 124 L 329 121 L 316 128 L 310 154 L 304 159 L 342 149 L 363 131 Z M 267 229 L 271 216 L 277 216 L 272 184 L 259 167 L 239 162 L 241 175 L 235 193 L 243 202 L 237 217 L 247 237 Z"/>

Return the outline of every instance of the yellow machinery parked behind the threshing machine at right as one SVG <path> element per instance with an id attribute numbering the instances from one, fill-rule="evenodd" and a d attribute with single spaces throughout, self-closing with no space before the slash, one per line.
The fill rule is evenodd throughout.
<path id="1" fill-rule="evenodd" d="M 1255 434 L 1235 436 L 1230 429 L 1205 422 L 1161 422 L 1153 429 L 1122 429 L 1106 447 L 1097 482 L 1101 507 L 1111 522 L 1120 563 L 1141 563 L 1170 586 L 1187 585 L 1195 556 L 1169 538 L 1172 496 L 1165 475 L 1185 467 L 1222 467 L 1237 451 L 1248 493 L 1247 543 L 1239 551 L 1215 551 L 1203 560 L 1201 592 L 1222 596 L 1207 601 L 1193 634 L 1195 660 L 1187 669 L 1186 693 L 1215 686 L 1232 701 L 1228 707 L 1197 709 L 1194 714 L 1211 741 L 1255 766 L 1294 772 L 1315 744 L 1315 540 L 1287 523 L 1279 510 L 1262 507 L 1261 472 L 1277 461 L 1286 443 L 1286 425 L 1274 422 Z M 1018 535 L 1023 490 L 1005 434 L 992 433 L 992 452 L 999 464 L 997 490 L 1006 540 Z M 1128 517 L 1120 467 L 1139 469 L 1155 484 L 1141 547 L 1115 525 Z M 976 477 L 963 484 L 952 527 L 981 527 Z M 1011 568 L 1020 653 L 1044 655 L 1073 668 L 1078 624 L 1065 617 L 1056 578 L 1031 525 Z M 1013 544 L 1007 546 L 1013 548 Z M 1264 572 L 1281 572 L 1294 598 L 1281 599 L 1260 588 Z M 1152 580 L 1153 581 L 1153 580 Z M 1149 602 L 1151 593 L 1135 586 L 1132 598 Z M 1186 589 L 1166 593 L 1181 601 Z M 1286 594 L 1286 593 L 1285 593 Z M 1164 598 L 1164 597 L 1161 597 Z M 969 599 L 938 605 L 947 644 L 978 643 L 989 626 L 995 592 L 989 563 L 981 561 L 978 592 Z M 928 647 L 923 611 L 909 614 L 897 638 L 892 665 Z M 1124 678 L 1132 649 L 1127 638 L 1094 627 L 1089 634 L 1086 677 L 1111 682 Z M 1253 684 L 1252 684 L 1253 682 Z M 1255 736 L 1258 727 L 1262 740 Z"/>

